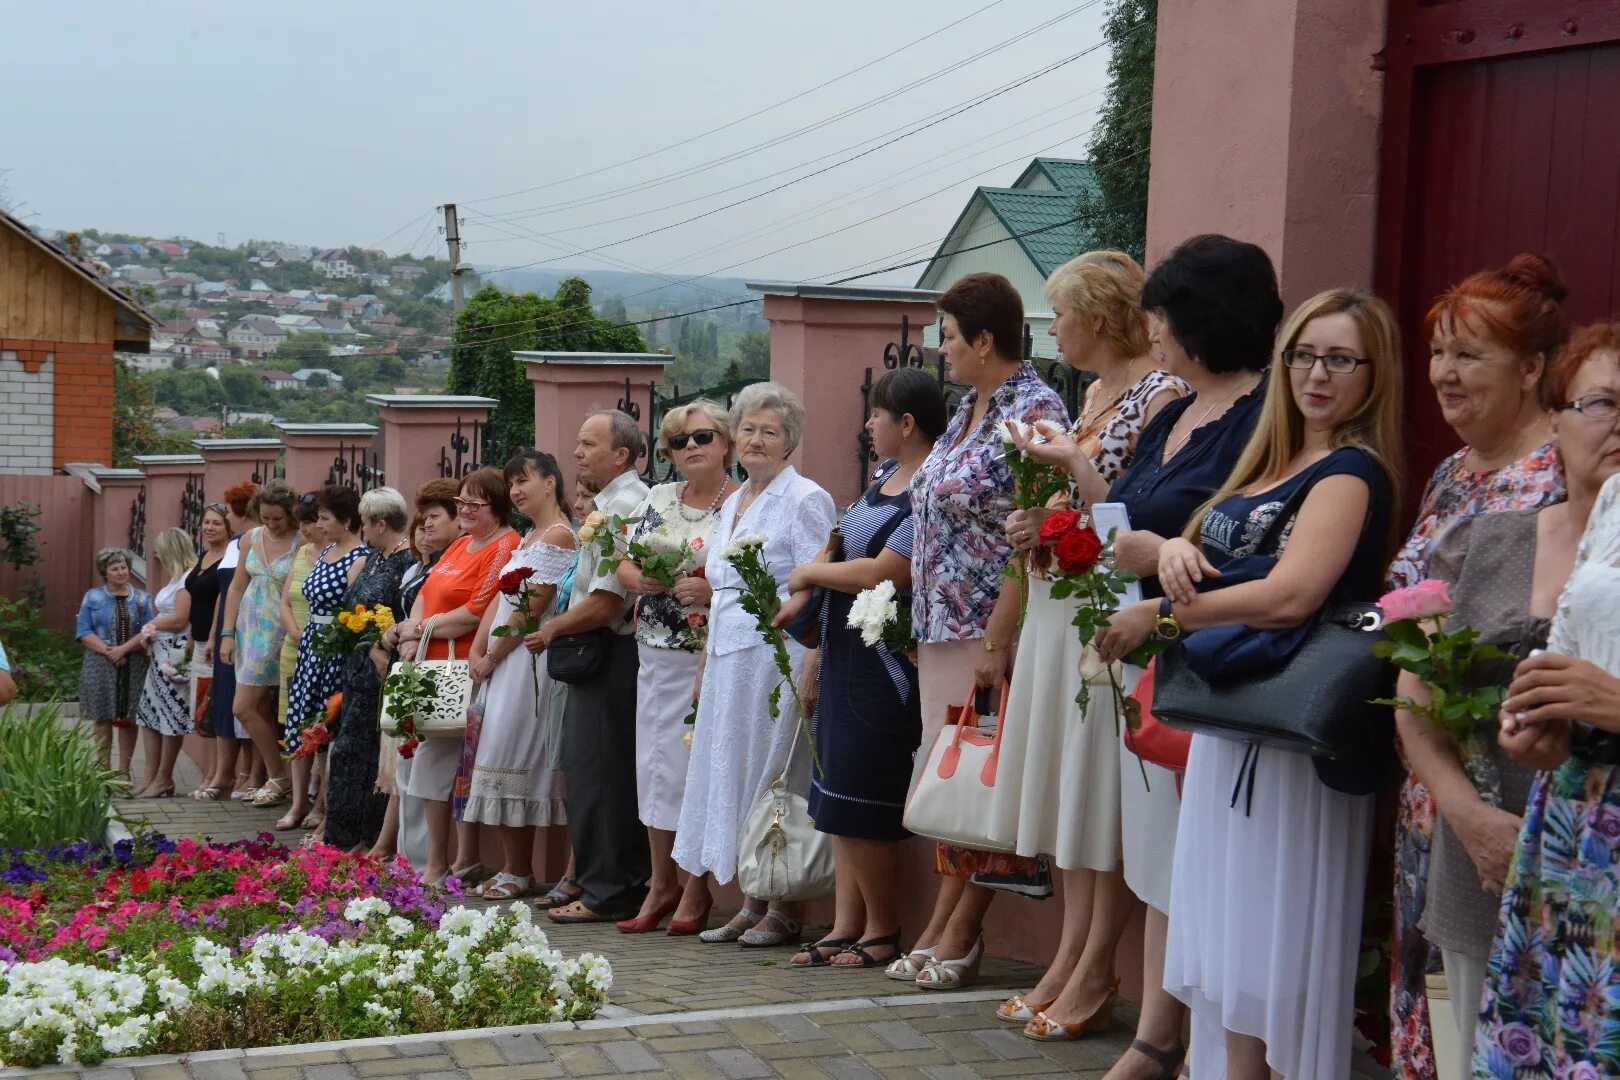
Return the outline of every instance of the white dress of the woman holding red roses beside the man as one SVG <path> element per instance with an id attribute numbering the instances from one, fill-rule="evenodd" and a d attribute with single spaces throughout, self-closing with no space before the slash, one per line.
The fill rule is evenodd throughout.
<path id="1" fill-rule="evenodd" d="M 535 572 L 530 585 L 557 585 L 572 565 L 572 547 L 533 541 L 515 547 L 501 573 L 528 567 Z M 507 625 L 517 610 L 512 597 L 504 593 L 496 604 L 491 630 Z M 489 641 L 494 644 L 499 638 L 491 636 Z M 484 688 L 484 722 L 463 821 L 510 827 L 569 823 L 562 801 L 562 769 L 552 767 L 552 690 L 546 657 L 535 656 L 523 646 L 507 653 L 496 665 Z"/>

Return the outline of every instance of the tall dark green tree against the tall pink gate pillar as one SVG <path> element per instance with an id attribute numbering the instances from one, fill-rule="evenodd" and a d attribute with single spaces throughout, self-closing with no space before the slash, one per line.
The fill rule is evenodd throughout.
<path id="1" fill-rule="evenodd" d="M 1081 235 L 1090 248 L 1147 248 L 1147 146 L 1153 131 L 1153 31 L 1158 0 L 1111 0 L 1103 36 L 1108 89 L 1090 141 L 1095 189 L 1076 201 Z"/>

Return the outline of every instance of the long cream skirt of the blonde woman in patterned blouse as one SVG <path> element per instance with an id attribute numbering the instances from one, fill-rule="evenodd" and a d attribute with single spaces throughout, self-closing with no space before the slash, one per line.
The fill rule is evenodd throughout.
<path id="1" fill-rule="evenodd" d="M 1029 614 L 1019 633 L 1008 696 L 1001 763 L 990 801 L 990 837 L 1014 840 L 1019 855 L 1051 855 L 1063 870 L 1119 866 L 1119 735 L 1105 674 L 1085 714 L 1081 638 L 1072 601 L 1051 599 L 1051 583 L 1029 578 Z M 1095 661 L 1095 651 L 1090 653 Z M 1094 664 L 1102 672 L 1100 664 Z"/>

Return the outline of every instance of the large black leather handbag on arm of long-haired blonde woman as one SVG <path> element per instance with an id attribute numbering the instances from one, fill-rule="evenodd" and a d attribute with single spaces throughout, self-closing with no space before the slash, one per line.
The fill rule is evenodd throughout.
<path id="1" fill-rule="evenodd" d="M 1304 484 L 1288 499 L 1257 552 L 1275 554 L 1283 526 L 1309 489 Z M 1197 633 L 1205 631 L 1187 638 Z M 1330 787 L 1351 795 L 1372 792 L 1383 779 L 1395 737 L 1395 714 L 1371 704 L 1395 691 L 1395 669 L 1372 653 L 1385 636 L 1375 602 L 1328 599 L 1291 654 L 1213 683 L 1187 662 L 1187 640 L 1173 641 L 1155 661 L 1153 716 L 1186 732 L 1314 755 L 1317 774 Z"/>

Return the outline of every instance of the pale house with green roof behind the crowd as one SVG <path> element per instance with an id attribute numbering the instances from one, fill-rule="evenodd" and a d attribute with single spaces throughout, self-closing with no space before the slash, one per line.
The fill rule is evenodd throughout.
<path id="1" fill-rule="evenodd" d="M 1047 335 L 1051 306 L 1043 287 L 1053 270 L 1090 249 L 1074 214 L 1079 193 L 1094 186 L 1090 164 L 1037 157 L 1011 188 L 978 188 L 917 279 L 917 288 L 943 291 L 969 274 L 1001 274 L 1024 298 L 1035 355 L 1056 356 Z M 928 332 L 928 345 L 936 334 L 936 329 Z"/>

